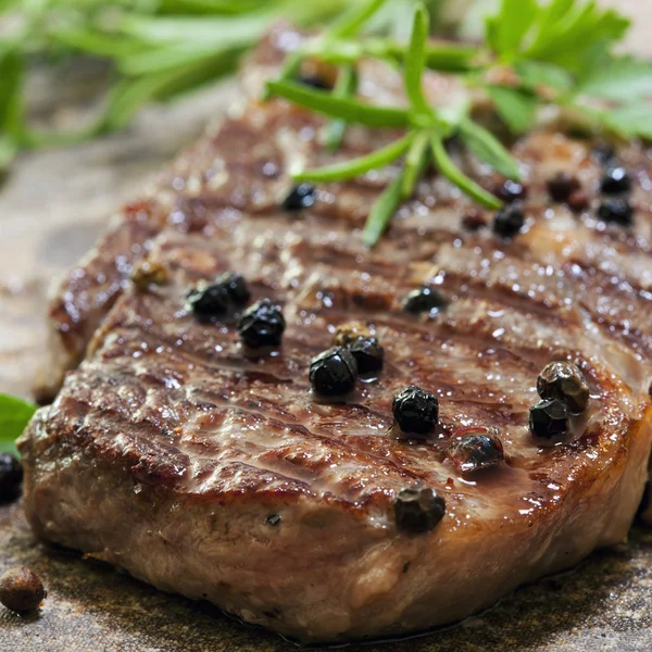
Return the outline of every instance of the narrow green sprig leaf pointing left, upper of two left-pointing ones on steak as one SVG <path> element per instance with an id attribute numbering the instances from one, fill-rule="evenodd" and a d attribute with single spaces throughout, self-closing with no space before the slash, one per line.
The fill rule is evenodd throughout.
<path id="1" fill-rule="evenodd" d="M 308 89 L 293 82 L 269 82 L 267 87 L 273 95 L 317 113 L 339 117 L 350 124 L 356 123 L 368 127 L 406 127 L 410 123 L 410 115 L 404 109 L 375 106 L 358 100 L 335 98 L 328 92 Z"/>

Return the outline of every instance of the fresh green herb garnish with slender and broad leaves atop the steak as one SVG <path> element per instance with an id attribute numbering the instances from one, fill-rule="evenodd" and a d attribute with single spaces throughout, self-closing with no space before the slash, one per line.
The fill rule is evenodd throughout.
<path id="1" fill-rule="evenodd" d="M 363 21 L 381 4 L 381 0 L 368 0 L 366 7 L 351 12 L 343 18 L 354 23 L 350 30 L 309 39 L 281 71 L 280 78 L 268 84 L 268 95 L 328 115 L 340 125 L 405 129 L 403 137 L 371 154 L 293 175 L 303 181 L 338 181 L 400 160 L 397 176 L 368 215 L 363 230 L 368 246 L 378 241 L 400 202 L 412 195 L 428 162 L 480 204 L 492 209 L 501 205 L 449 155 L 447 142 L 453 135 L 499 174 L 518 178 L 517 163 L 488 129 L 474 121 L 469 102 L 446 109 L 429 105 L 422 88 L 426 68 L 452 72 L 469 88 L 485 91 L 497 114 L 516 135 L 536 126 L 542 109 L 548 106 L 595 130 L 652 138 L 648 103 L 652 98 L 652 66 L 613 53 L 629 26 L 613 10 L 602 10 L 586 0 L 503 0 L 499 12 L 486 22 L 485 43 L 469 48 L 428 42 L 428 14 L 423 4 L 417 4 L 406 46 L 378 37 L 346 38 L 360 30 Z M 292 76 L 306 57 L 346 64 L 347 74 L 365 57 L 400 66 L 409 106 L 377 106 L 355 99 L 351 92 L 330 95 L 302 87 Z"/>

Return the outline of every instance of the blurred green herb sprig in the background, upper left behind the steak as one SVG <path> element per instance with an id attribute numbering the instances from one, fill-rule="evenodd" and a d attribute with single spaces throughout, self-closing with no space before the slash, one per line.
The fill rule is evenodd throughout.
<path id="1" fill-rule="evenodd" d="M 328 25 L 347 0 L 0 0 L 0 173 L 23 149 L 88 140 L 125 127 L 148 101 L 166 100 L 233 72 L 285 16 Z M 110 68 L 105 101 L 73 131 L 36 128 L 25 88 L 34 61 L 83 55 Z"/>

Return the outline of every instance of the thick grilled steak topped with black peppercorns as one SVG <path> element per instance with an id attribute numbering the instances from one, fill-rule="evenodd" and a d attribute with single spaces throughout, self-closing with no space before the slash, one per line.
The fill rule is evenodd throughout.
<path id="1" fill-rule="evenodd" d="M 264 79 L 65 279 L 54 402 L 20 440 L 35 531 L 303 641 L 424 629 L 622 542 L 652 432 L 652 181 L 552 129 L 497 216 L 434 173 L 376 248 L 392 170 L 293 187 L 391 135 Z M 431 101 L 457 88 L 431 75 Z M 397 73 L 360 89 L 402 102 Z M 58 338 L 58 339 L 57 339 Z M 53 371 L 55 364 L 53 363 Z"/>

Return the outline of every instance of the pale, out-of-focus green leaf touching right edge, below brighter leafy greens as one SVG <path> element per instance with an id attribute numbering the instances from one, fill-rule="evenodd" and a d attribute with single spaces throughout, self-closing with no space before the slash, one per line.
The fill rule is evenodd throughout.
<path id="1" fill-rule="evenodd" d="M 652 97 L 652 65 L 631 57 L 601 62 L 585 77 L 576 92 L 615 101 Z"/>

